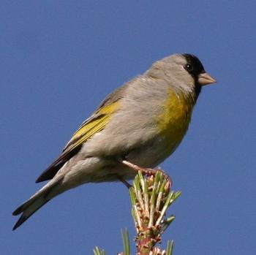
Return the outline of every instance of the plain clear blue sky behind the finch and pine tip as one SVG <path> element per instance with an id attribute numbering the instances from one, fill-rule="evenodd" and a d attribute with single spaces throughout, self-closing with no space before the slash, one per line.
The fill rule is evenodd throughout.
<path id="1" fill-rule="evenodd" d="M 163 243 L 175 240 L 175 255 L 256 254 L 255 3 L 1 0 L 0 253 L 122 251 L 120 229 L 135 232 L 121 183 L 69 191 L 15 232 L 11 213 L 106 94 L 186 52 L 218 84 L 162 164 L 182 191 Z"/>

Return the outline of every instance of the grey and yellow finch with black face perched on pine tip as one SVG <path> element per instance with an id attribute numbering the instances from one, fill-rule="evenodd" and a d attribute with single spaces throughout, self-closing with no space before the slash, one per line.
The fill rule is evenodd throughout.
<path id="1" fill-rule="evenodd" d="M 84 183 L 135 177 L 133 166 L 157 167 L 187 133 L 204 85 L 216 83 L 201 61 L 176 53 L 154 62 L 99 104 L 36 183 L 48 180 L 13 216 L 14 229 L 59 194 Z"/>

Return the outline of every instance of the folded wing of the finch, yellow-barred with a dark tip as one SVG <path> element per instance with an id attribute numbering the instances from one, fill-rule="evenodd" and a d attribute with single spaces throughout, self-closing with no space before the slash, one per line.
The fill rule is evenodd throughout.
<path id="1" fill-rule="evenodd" d="M 116 92 L 118 92 L 118 90 Z M 94 112 L 90 118 L 84 121 L 78 131 L 73 134 L 59 158 L 53 161 L 48 169 L 42 172 L 39 178 L 37 178 L 36 183 L 52 179 L 60 168 L 71 159 L 72 156 L 80 151 L 84 142 L 105 128 L 113 113 L 116 113 L 119 109 L 119 99 L 121 99 L 121 94 L 119 96 L 110 94 L 105 101 L 102 102 L 98 110 Z"/>

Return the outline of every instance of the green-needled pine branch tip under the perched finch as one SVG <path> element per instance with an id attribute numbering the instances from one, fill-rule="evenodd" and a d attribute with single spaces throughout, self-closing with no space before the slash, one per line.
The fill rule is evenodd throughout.
<path id="1" fill-rule="evenodd" d="M 181 195 L 180 191 L 170 191 L 170 178 L 162 170 L 143 176 L 139 171 L 133 186 L 129 189 L 132 202 L 132 218 L 135 221 L 137 235 L 136 255 L 172 255 L 173 241 L 168 241 L 166 250 L 157 247 L 162 234 L 173 222 L 175 216 L 166 216 L 167 208 Z M 127 229 L 121 232 L 124 252 L 118 255 L 130 255 Z M 94 255 L 105 255 L 104 250 L 94 249 Z"/>

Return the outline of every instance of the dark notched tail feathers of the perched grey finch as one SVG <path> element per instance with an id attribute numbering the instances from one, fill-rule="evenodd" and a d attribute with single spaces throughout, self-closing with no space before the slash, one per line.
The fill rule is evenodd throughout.
<path id="1" fill-rule="evenodd" d="M 37 193 L 34 194 L 34 196 L 29 198 L 26 202 L 23 203 L 23 205 L 20 205 L 20 207 L 18 207 L 12 213 L 13 216 L 18 216 L 20 213 L 22 213 L 12 230 L 15 230 L 18 227 L 20 227 L 20 225 L 23 224 L 39 208 L 41 208 L 43 205 L 49 202 L 50 199 L 57 195 L 54 194 L 55 192 L 52 191 L 60 183 L 60 181 L 61 179 L 54 181 L 54 183 L 47 183 L 45 186 L 42 187 L 42 189 L 37 191 Z"/>

